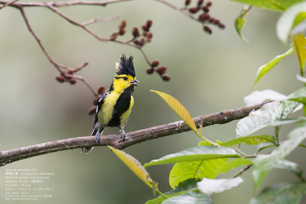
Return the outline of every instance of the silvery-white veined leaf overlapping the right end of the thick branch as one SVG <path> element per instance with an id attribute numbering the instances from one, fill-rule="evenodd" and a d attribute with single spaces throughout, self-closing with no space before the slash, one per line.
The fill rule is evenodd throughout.
<path id="1" fill-rule="evenodd" d="M 244 137 L 269 126 L 271 116 L 279 105 L 277 101 L 266 103 L 260 109 L 242 118 L 236 127 L 236 137 Z"/>

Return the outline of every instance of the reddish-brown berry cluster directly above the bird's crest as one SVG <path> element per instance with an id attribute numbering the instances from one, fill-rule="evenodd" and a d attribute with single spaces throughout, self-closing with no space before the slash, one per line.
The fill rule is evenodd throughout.
<path id="1" fill-rule="evenodd" d="M 132 35 L 133 38 L 125 43 L 130 43 L 134 42 L 134 44 L 137 47 L 142 47 L 144 46 L 145 43 L 151 42 L 151 39 L 153 37 L 153 34 L 150 32 L 150 27 L 152 26 L 152 20 L 147 20 L 147 22 L 141 26 L 142 33 L 140 34 L 139 29 L 137 27 L 134 27 L 132 29 Z M 110 35 L 110 40 L 116 40 L 118 35 L 124 35 L 125 34 L 125 27 L 126 27 L 126 21 L 122 20 L 121 23 L 119 24 L 118 32 L 114 32 L 113 34 Z"/>

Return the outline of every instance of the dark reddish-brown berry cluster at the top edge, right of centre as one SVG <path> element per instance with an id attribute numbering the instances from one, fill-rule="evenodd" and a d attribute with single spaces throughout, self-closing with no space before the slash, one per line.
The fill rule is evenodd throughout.
<path id="1" fill-rule="evenodd" d="M 188 10 L 190 13 L 192 14 L 196 14 L 199 11 L 202 11 L 203 13 L 201 13 L 196 20 L 200 21 L 203 24 L 203 30 L 208 33 L 211 34 L 211 28 L 209 28 L 206 24 L 214 24 L 216 26 L 218 26 L 221 29 L 225 28 L 225 25 L 223 23 L 220 22 L 219 19 L 216 19 L 214 17 L 211 17 L 208 12 L 209 12 L 209 7 L 212 5 L 211 1 L 208 1 L 205 5 L 203 4 L 204 0 L 198 0 L 197 4 L 195 7 L 191 7 L 191 8 L 187 8 L 190 3 L 191 0 L 185 0 L 185 10 Z"/>

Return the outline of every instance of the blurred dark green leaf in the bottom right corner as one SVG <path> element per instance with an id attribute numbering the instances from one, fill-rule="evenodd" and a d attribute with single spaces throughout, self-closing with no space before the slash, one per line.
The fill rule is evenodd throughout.
<path id="1" fill-rule="evenodd" d="M 302 195 L 306 194 L 305 182 L 281 183 L 268 186 L 251 199 L 249 204 L 299 204 Z"/>

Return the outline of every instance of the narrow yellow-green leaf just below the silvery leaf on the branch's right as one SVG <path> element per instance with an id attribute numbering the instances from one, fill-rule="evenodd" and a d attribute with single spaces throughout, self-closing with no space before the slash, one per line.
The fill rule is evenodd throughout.
<path id="1" fill-rule="evenodd" d="M 257 145 L 260 143 L 273 142 L 275 143 L 274 137 L 271 135 L 253 135 L 253 136 L 244 136 L 237 137 L 234 139 L 230 139 L 222 142 L 220 145 L 224 147 L 231 147 L 237 144 L 246 144 L 246 145 Z"/>

